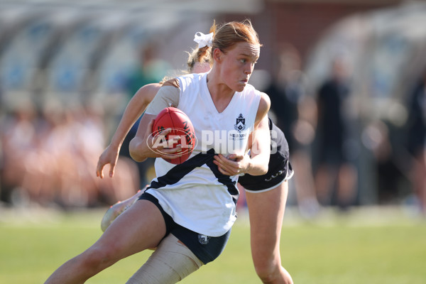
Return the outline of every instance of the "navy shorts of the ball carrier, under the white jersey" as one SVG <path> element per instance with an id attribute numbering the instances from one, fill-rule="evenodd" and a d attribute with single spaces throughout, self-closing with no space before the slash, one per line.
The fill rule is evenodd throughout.
<path id="1" fill-rule="evenodd" d="M 226 244 L 228 243 L 229 236 L 231 235 L 231 230 L 227 231 L 226 234 L 222 236 L 205 236 L 198 234 L 195 231 L 186 229 L 180 224 L 177 224 L 169 214 L 167 214 L 163 207 L 161 207 L 158 200 L 150 195 L 147 192 L 139 197 L 139 200 L 148 200 L 153 202 L 158 209 L 160 209 L 161 214 L 163 214 L 166 233 L 173 234 L 176 238 L 182 241 L 185 246 L 187 246 L 192 253 L 197 256 L 197 258 L 202 261 L 202 263 L 207 264 L 210 261 L 214 261 L 221 253 L 224 251 Z"/>

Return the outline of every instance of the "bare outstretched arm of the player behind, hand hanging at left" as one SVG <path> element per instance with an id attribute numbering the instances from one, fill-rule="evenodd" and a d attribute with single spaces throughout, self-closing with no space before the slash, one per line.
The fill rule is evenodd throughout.
<path id="1" fill-rule="evenodd" d="M 119 158 L 119 152 L 124 138 L 126 138 L 133 124 L 135 124 L 139 116 L 141 116 L 146 107 L 148 107 L 148 104 L 153 100 L 160 87 L 160 84 L 146 84 L 138 89 L 138 92 L 131 98 L 121 117 L 114 136 L 111 138 L 111 143 L 109 143 L 109 146 L 107 146 L 104 152 L 99 156 L 96 167 L 97 177 L 104 178 L 103 170 L 104 166 L 107 164 L 109 164 L 109 177 L 112 178 L 114 176 L 114 169 Z"/>

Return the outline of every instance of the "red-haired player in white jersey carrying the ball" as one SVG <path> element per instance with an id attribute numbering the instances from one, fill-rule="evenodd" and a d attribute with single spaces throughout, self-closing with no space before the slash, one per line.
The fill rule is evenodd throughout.
<path id="1" fill-rule="evenodd" d="M 251 148 L 251 131 L 259 125 L 267 124 L 266 114 L 270 107 L 267 95 L 248 84 L 260 55 L 260 47 L 257 33 L 250 21 L 225 23 L 217 29 L 212 40 L 214 62 L 210 72 L 178 77 L 163 84 L 153 100 L 153 107 L 141 119 L 138 133 L 130 146 L 135 160 L 157 158 L 157 165 L 163 166 L 163 169 L 156 168 L 160 172 L 158 178 L 151 182 L 151 188 L 138 202 L 109 226 L 95 244 L 60 266 L 45 283 L 84 283 L 121 258 L 159 244 L 160 249 L 162 240 L 170 234 L 179 239 L 182 247 L 190 249 L 192 255 L 185 253 L 190 261 L 197 263 L 197 267 L 219 256 L 236 218 L 236 175 L 261 175 L 267 171 L 270 153 L 268 132 L 268 135 L 258 134 L 261 141 L 257 151 L 252 151 L 251 156 L 244 153 L 245 148 Z M 201 92 L 193 89 L 195 85 Z M 193 108 L 202 106 L 212 116 L 205 116 L 205 112 L 183 106 L 184 102 L 190 103 L 188 95 L 201 96 L 197 100 L 200 105 Z M 163 105 L 160 102 L 162 100 L 165 102 Z M 205 127 L 197 129 L 197 135 L 207 137 L 214 131 L 225 130 L 225 138 L 213 134 L 213 140 L 209 138 L 208 143 L 199 141 L 199 146 L 185 163 L 166 164 L 160 158 L 170 158 L 171 154 L 180 151 L 180 147 L 155 149 L 163 151 L 163 155 L 158 154 L 158 151 L 151 151 L 157 141 L 151 139 L 151 131 L 146 129 L 151 129 L 152 120 L 159 109 L 168 107 L 169 103 L 182 107 L 190 116 L 195 129 Z M 237 109 L 241 111 L 236 111 Z M 242 122 L 241 119 L 247 121 Z M 168 130 L 164 131 L 166 133 Z M 239 143 L 238 147 L 231 147 L 231 151 L 228 151 L 227 145 L 218 145 L 215 140 Z M 177 192 L 179 195 L 176 195 Z M 200 222 L 200 219 L 204 222 Z M 168 264 L 173 266 L 173 263 Z M 188 273 L 195 270 L 196 268 L 190 268 Z M 179 272 L 182 272 L 182 277 L 187 275 L 185 271 Z M 175 279 L 175 274 L 174 268 L 163 270 L 150 266 L 143 273 L 146 279 L 142 283 L 175 283 L 180 280 L 170 282 L 170 278 Z"/>

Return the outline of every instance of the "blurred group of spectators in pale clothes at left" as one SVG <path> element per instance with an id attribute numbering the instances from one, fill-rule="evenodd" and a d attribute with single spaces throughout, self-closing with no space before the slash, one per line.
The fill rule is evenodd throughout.
<path id="1" fill-rule="evenodd" d="M 50 102 L 43 111 L 18 102 L 0 124 L 1 196 L 28 207 L 112 204 L 138 189 L 136 165 L 120 158 L 117 180 L 99 180 L 93 168 L 104 147 L 99 113 Z"/>

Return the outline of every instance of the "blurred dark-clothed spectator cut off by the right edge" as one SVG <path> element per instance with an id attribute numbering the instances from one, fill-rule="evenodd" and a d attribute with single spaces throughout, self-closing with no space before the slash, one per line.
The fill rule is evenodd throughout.
<path id="1" fill-rule="evenodd" d="M 422 214 L 426 214 L 426 71 L 408 103 L 407 147 L 412 155 L 411 182 Z"/>

